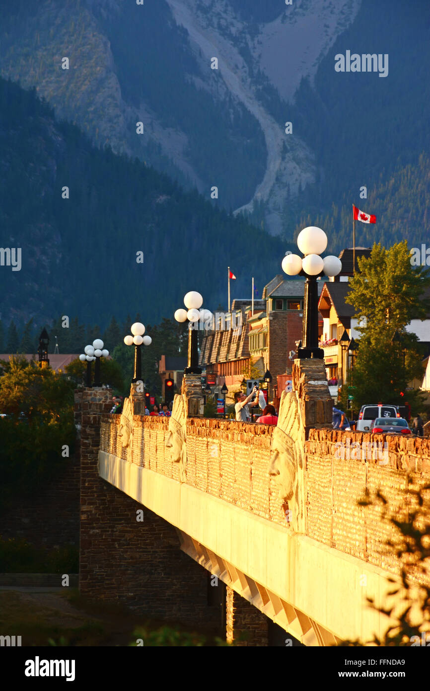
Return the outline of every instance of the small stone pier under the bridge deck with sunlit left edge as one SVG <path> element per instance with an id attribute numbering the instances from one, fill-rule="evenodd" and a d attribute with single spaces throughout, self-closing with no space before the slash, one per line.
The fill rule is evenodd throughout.
<path id="1" fill-rule="evenodd" d="M 226 588 L 227 643 L 240 646 L 268 645 L 269 620 L 235 590 Z"/>

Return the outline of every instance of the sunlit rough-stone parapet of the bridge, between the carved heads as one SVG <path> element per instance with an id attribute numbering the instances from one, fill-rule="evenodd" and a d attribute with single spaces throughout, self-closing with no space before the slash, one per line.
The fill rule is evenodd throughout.
<path id="1" fill-rule="evenodd" d="M 268 475 L 273 429 L 224 419 L 188 418 L 186 483 L 289 529 L 286 507 Z M 166 448 L 167 434 L 167 418 L 135 416 L 133 448 L 124 448 L 119 415 L 104 415 L 101 450 L 179 481 L 179 464 L 172 462 Z M 365 433 L 311 430 L 303 476 L 305 532 L 328 547 L 395 573 L 397 560 L 387 549 L 387 540 L 395 536 L 393 527 L 382 521 L 380 504 L 365 508 L 358 500 L 366 490 L 371 494 L 380 490 L 392 512 L 406 519 L 416 508 L 413 490 L 430 483 L 430 439 L 383 439 L 378 435 L 375 440 L 382 442 L 382 451 L 374 457 L 369 455 L 371 439 Z"/>

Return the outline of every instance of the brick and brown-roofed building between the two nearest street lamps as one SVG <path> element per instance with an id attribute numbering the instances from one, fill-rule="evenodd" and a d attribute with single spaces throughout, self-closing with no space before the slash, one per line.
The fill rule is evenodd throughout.
<path id="1" fill-rule="evenodd" d="M 323 281 L 319 291 L 322 285 Z M 215 328 L 203 337 L 200 364 L 206 366 L 206 376 L 213 377 L 216 387 L 225 381 L 228 403 L 251 367 L 260 370 L 256 379 L 270 372 L 268 399 L 277 397 L 277 377 L 291 373 L 289 354 L 302 338 L 303 296 L 304 279 L 277 274 L 264 287 L 262 300 L 254 301 L 253 312 L 250 300 L 235 300 L 230 315 L 215 319 Z"/>

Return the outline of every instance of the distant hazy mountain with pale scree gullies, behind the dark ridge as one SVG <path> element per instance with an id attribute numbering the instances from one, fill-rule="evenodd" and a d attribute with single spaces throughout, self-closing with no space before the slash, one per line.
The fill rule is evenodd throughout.
<path id="1" fill-rule="evenodd" d="M 375 227 L 360 224 L 361 245 L 422 242 L 427 0 L 0 0 L 0 8 L 1 75 L 35 86 L 97 146 L 139 158 L 288 242 L 318 219 L 331 250 L 350 245 L 353 203 L 378 217 Z M 337 72 L 346 51 L 387 55 L 387 77 Z"/>

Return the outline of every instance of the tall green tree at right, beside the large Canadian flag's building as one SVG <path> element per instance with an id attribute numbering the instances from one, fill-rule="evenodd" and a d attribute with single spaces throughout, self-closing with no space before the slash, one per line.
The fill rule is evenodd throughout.
<path id="1" fill-rule="evenodd" d="M 359 258 L 360 273 L 351 278 L 349 304 L 356 316 L 364 317 L 358 328 L 360 342 L 352 373 L 355 410 L 366 403 L 384 401 L 404 404 L 413 413 L 422 410 L 424 397 L 418 390 L 405 390 L 422 377 L 422 346 L 416 334 L 407 332 L 411 319 L 424 319 L 430 304 L 423 299 L 430 285 L 429 270 L 412 267 L 407 243 L 389 249 L 373 245 L 369 258 Z M 400 343 L 393 342 L 395 331 Z M 406 352 L 403 353 L 403 350 Z"/>

